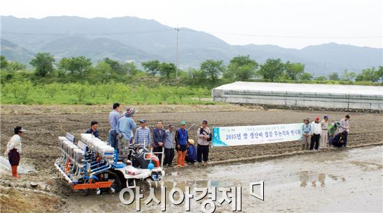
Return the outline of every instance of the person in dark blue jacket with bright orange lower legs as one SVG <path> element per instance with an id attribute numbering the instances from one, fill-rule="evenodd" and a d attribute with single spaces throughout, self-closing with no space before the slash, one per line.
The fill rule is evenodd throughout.
<path id="1" fill-rule="evenodd" d="M 175 148 L 178 151 L 177 155 L 177 167 L 185 167 L 185 157 L 187 141 L 189 140 L 189 134 L 187 133 L 186 122 L 180 122 L 180 128 L 175 132 Z"/>

